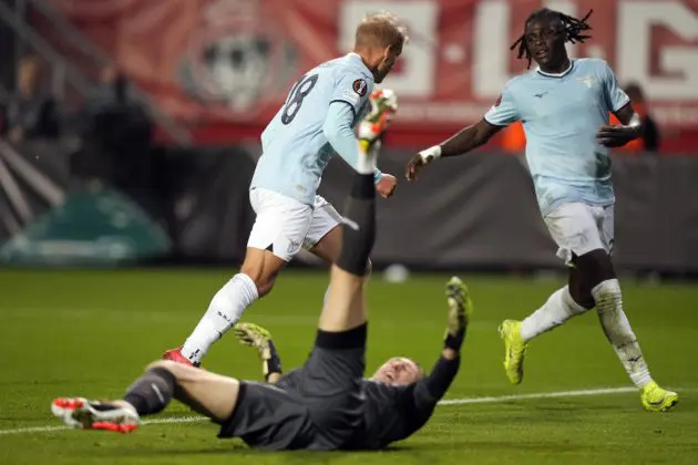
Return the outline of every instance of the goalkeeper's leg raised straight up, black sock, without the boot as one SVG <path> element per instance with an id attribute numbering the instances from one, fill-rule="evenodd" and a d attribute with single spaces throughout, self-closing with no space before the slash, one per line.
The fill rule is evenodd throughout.
<path id="1" fill-rule="evenodd" d="M 347 446 L 363 421 L 361 379 L 366 368 L 367 313 L 363 286 L 376 237 L 372 174 L 356 174 L 345 209 L 342 249 L 330 271 L 315 348 L 298 384 L 312 423 L 331 448 Z"/>

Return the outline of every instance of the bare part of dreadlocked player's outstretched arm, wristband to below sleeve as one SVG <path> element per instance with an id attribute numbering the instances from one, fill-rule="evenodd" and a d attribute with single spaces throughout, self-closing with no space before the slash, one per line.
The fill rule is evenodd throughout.
<path id="1" fill-rule="evenodd" d="M 504 126 L 496 126 L 489 123 L 484 117 L 472 124 L 451 138 L 439 145 L 427 148 L 410 159 L 406 170 L 408 180 L 417 179 L 417 173 L 422 166 L 444 156 L 456 156 L 465 154 L 485 144 L 492 136 L 499 133 Z"/>

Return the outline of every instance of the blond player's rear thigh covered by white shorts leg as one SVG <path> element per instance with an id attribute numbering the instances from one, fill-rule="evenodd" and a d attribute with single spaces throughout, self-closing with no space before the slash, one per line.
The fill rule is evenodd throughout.
<path id="1" fill-rule="evenodd" d="M 302 247 L 312 219 L 312 207 L 295 198 L 267 190 L 252 189 L 249 200 L 257 214 L 247 241 L 248 248 L 268 250 L 290 261 Z"/>

